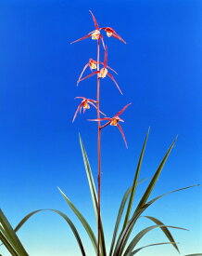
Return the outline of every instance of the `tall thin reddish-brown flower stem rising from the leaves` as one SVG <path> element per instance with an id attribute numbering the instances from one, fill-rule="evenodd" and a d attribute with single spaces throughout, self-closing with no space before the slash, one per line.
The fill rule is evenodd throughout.
<path id="1" fill-rule="evenodd" d="M 97 40 L 97 71 L 99 71 L 100 61 L 100 40 Z M 96 107 L 97 107 L 97 119 L 100 118 L 100 78 L 97 74 L 96 81 Z M 98 202 L 97 202 L 97 256 L 100 256 L 100 229 L 101 229 L 101 217 L 100 217 L 100 192 L 101 192 L 101 125 L 97 122 L 97 184 L 98 184 Z"/>

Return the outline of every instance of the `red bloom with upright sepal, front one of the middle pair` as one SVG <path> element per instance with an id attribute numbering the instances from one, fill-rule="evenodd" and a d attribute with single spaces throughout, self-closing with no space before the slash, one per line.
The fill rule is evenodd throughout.
<path id="1" fill-rule="evenodd" d="M 101 63 L 102 63 L 102 62 L 101 62 Z M 87 66 L 84 67 L 84 70 L 85 70 L 86 68 L 87 68 Z M 105 59 L 104 59 L 104 63 L 103 63 L 103 68 L 102 68 L 101 70 L 98 70 L 98 71 L 93 72 L 92 74 L 88 74 L 87 76 L 85 76 L 85 77 L 82 78 L 82 74 L 83 74 L 83 72 L 84 72 L 84 71 L 83 71 L 82 74 L 80 75 L 80 78 L 79 78 L 79 80 L 78 80 L 78 82 L 77 82 L 77 85 L 78 85 L 82 80 L 84 80 L 84 79 L 86 79 L 86 78 L 89 78 L 89 77 L 93 76 L 94 74 L 97 74 L 98 78 L 105 78 L 105 77 L 108 75 L 108 76 L 111 78 L 111 80 L 115 83 L 115 85 L 116 85 L 117 88 L 119 89 L 120 93 L 122 94 L 122 91 L 121 91 L 121 89 L 120 89 L 118 83 L 117 83 L 116 80 L 114 79 L 114 76 L 108 72 L 107 68 L 110 69 L 110 70 L 112 70 L 111 68 L 109 68 L 109 67 L 107 66 L 107 47 L 106 47 L 106 50 L 105 50 Z M 112 71 L 114 71 L 114 70 L 112 70 Z M 114 72 L 115 72 L 115 71 L 114 71 Z M 82 79 L 81 79 L 81 78 L 82 78 Z"/>

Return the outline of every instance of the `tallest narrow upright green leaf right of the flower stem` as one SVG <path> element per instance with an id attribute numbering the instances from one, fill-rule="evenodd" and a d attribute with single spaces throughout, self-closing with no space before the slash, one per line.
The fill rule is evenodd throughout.
<path id="1" fill-rule="evenodd" d="M 134 175 L 134 179 L 133 179 L 133 186 L 132 186 L 132 193 L 130 195 L 129 204 L 128 204 L 128 208 L 127 208 L 127 211 L 126 211 L 125 220 L 124 220 L 122 229 L 125 228 L 127 222 L 129 221 L 130 213 L 131 213 L 131 210 L 132 210 L 132 207 L 133 207 L 133 198 L 134 198 L 134 194 L 135 194 L 135 190 L 136 190 L 136 186 L 137 186 L 137 181 L 138 181 L 139 174 L 140 174 L 141 165 L 142 165 L 142 162 L 143 162 L 143 156 L 144 156 L 144 153 L 145 153 L 145 145 L 146 145 L 146 141 L 148 139 L 149 129 L 150 128 L 148 128 L 148 131 L 146 133 L 143 148 L 142 148 L 142 151 L 141 151 L 141 154 L 140 154 L 140 157 L 139 157 L 139 161 L 138 161 L 138 164 L 137 164 L 137 168 L 136 168 L 136 171 L 135 171 L 135 175 Z"/>

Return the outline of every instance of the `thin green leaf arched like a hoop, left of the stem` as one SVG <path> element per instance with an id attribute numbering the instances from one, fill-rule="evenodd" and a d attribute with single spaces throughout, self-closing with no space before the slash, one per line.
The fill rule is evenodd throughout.
<path id="1" fill-rule="evenodd" d="M 16 228 L 14 229 L 15 232 L 19 231 L 19 229 L 21 228 L 21 226 L 27 222 L 31 217 L 32 215 L 36 214 L 37 212 L 40 212 L 40 211 L 53 211 L 53 212 L 56 212 L 57 214 L 59 214 L 66 222 L 69 223 L 69 227 L 71 228 L 71 231 L 73 232 L 75 238 L 77 239 L 77 242 L 79 244 L 79 247 L 80 247 L 80 250 L 82 252 L 82 256 L 86 256 L 85 254 L 85 250 L 83 248 L 83 245 L 82 245 L 82 239 L 75 227 L 75 225 L 73 224 L 73 222 L 70 221 L 70 219 L 68 218 L 68 216 L 66 214 L 64 214 L 63 212 L 57 210 L 57 209 L 37 209 L 37 210 L 34 210 L 32 211 L 31 213 L 29 213 L 28 215 L 26 215 L 20 222 L 19 224 L 16 226 Z"/>

